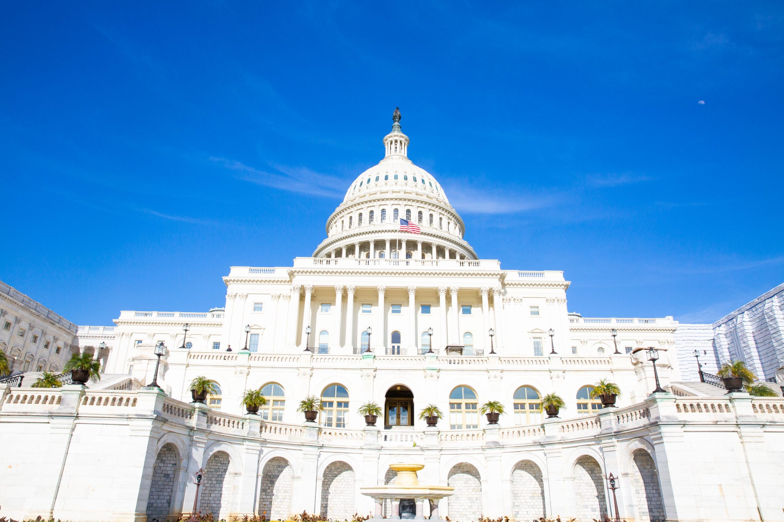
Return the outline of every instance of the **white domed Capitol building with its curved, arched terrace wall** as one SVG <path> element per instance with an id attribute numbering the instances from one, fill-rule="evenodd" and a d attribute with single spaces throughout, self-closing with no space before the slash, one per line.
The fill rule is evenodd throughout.
<path id="1" fill-rule="evenodd" d="M 86 389 L 0 384 L 0 515 L 173 520 L 203 468 L 198 509 L 226 519 L 592 520 L 615 517 L 612 473 L 625 520 L 784 520 L 784 400 L 700 383 L 672 317 L 583 318 L 563 272 L 481 259 L 408 145 L 396 111 L 383 160 L 350 183 L 312 256 L 231 267 L 225 308 L 122 311 L 79 327 L 49 368 L 23 368 L 20 351 L 19 371 L 89 351 L 105 373 Z M 159 343 L 162 390 L 145 387 Z M 204 405 L 196 376 L 216 385 Z M 620 387 L 616 408 L 590 398 L 601 379 Z M 248 389 L 267 398 L 259 415 L 241 405 Z M 566 402 L 557 418 L 539 404 L 551 393 Z M 316 423 L 297 411 L 307 395 L 325 406 Z M 357 411 L 368 401 L 377 426 Z M 498 424 L 487 401 L 506 409 Z M 430 404 L 445 414 L 435 427 L 419 419 Z M 419 481 L 454 495 L 362 495 L 389 484 L 391 463 L 423 463 Z"/>

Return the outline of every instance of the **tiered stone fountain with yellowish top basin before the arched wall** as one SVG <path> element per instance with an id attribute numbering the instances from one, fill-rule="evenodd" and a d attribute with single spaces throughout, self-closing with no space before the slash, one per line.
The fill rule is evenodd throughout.
<path id="1" fill-rule="evenodd" d="M 419 484 L 416 472 L 424 467 L 423 464 L 390 464 L 390 468 L 397 472 L 394 481 L 386 486 L 359 488 L 362 495 L 376 501 L 376 516 L 373 518 L 383 518 L 383 502 L 385 499 L 391 499 L 390 518 L 424 520 L 424 502 L 427 500 L 430 502 L 430 520 L 441 520 L 438 516 L 438 502 L 452 495 L 455 488 Z M 412 509 L 412 504 L 416 505 L 416 509 Z"/>

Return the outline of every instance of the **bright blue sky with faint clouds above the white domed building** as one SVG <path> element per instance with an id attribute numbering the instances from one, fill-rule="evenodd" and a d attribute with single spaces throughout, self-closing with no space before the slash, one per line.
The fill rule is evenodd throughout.
<path id="1" fill-rule="evenodd" d="M 78 324 L 223 306 L 312 253 L 400 106 L 477 254 L 564 270 L 570 311 L 782 283 L 784 6 L 485 4 L 6 2 L 0 279 Z"/>

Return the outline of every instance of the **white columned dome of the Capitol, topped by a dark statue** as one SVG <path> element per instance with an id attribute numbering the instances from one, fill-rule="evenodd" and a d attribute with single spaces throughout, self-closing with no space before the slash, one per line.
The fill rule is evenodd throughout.
<path id="1" fill-rule="evenodd" d="M 477 259 L 444 189 L 408 159 L 408 142 L 396 110 L 383 160 L 350 185 L 313 257 Z M 401 219 L 418 225 L 421 234 L 401 232 Z"/>

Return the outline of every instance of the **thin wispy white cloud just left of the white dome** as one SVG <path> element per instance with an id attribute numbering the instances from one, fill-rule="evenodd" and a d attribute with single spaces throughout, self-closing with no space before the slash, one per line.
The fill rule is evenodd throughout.
<path id="1" fill-rule="evenodd" d="M 270 164 L 270 171 L 262 171 L 227 158 L 211 157 L 210 160 L 234 171 L 237 178 L 246 182 L 311 196 L 342 198 L 349 183 L 346 179 L 321 174 L 305 167 Z"/>

